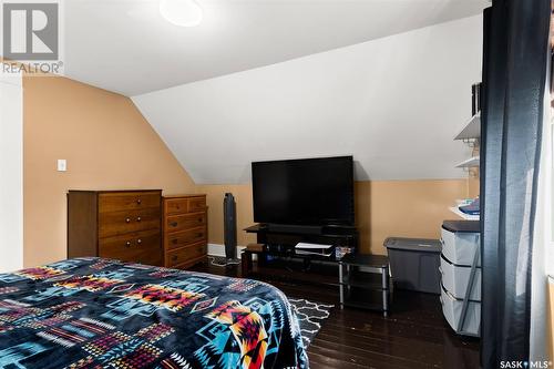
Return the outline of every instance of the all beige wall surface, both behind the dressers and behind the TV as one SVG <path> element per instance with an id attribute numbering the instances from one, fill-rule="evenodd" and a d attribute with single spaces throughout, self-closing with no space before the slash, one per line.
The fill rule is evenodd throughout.
<path id="1" fill-rule="evenodd" d="M 237 201 L 238 244 L 255 242 L 250 185 L 195 185 L 132 101 L 64 78 L 24 88 L 24 265 L 65 257 L 68 189 L 162 188 L 206 193 L 209 242 L 223 244 L 223 196 Z M 57 172 L 58 158 L 68 172 Z M 356 183 L 362 252 L 383 254 L 388 236 L 439 237 L 448 207 L 474 195 L 471 180 Z"/>

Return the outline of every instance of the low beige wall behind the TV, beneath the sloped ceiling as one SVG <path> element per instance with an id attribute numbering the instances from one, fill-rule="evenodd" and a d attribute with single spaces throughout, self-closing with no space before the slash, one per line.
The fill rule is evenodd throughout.
<path id="1" fill-rule="evenodd" d="M 255 242 L 242 229 L 254 224 L 250 185 L 202 185 L 209 206 L 209 242 L 223 244 L 223 196 L 237 203 L 238 244 Z M 360 249 L 384 254 L 388 236 L 439 238 L 444 219 L 455 219 L 449 206 L 469 193 L 468 180 L 373 181 L 356 183 L 356 216 Z"/>

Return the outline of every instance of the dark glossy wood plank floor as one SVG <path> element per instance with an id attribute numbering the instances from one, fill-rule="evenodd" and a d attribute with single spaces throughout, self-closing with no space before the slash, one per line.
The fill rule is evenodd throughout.
<path id="1" fill-rule="evenodd" d="M 199 265 L 195 270 L 239 276 L 237 267 Z M 266 276 L 293 298 L 338 305 L 336 288 Z M 479 340 L 462 339 L 444 321 L 434 295 L 394 291 L 388 318 L 380 312 L 336 307 L 308 348 L 319 368 L 479 368 Z"/>

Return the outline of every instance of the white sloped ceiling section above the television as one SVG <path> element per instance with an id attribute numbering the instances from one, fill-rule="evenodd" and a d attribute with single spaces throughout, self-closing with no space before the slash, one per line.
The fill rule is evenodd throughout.
<path id="1" fill-rule="evenodd" d="M 353 154 L 358 180 L 463 177 L 481 16 L 133 98 L 199 184 L 252 161 Z"/>

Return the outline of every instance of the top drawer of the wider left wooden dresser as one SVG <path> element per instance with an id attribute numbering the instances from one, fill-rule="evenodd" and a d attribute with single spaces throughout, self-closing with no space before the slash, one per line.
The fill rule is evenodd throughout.
<path id="1" fill-rule="evenodd" d="M 137 211 L 151 207 L 160 208 L 162 196 L 160 192 L 125 192 L 101 193 L 99 195 L 99 212 Z"/>

